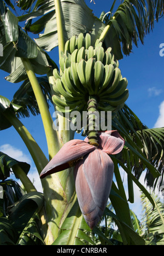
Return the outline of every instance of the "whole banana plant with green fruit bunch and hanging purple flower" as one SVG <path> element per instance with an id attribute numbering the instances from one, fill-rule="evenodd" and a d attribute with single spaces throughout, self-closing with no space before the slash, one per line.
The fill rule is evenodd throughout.
<path id="1" fill-rule="evenodd" d="M 132 225 L 128 201 L 133 202 L 134 182 L 155 207 L 153 198 L 133 171 L 138 167 L 139 172 L 147 168 L 155 181 L 160 177 L 162 167 L 158 170 L 153 160 L 156 152 L 159 162 L 159 155 L 163 154 L 163 129 L 145 130 L 126 107 L 127 79 L 122 78 L 118 60 L 123 54 L 130 54 L 132 41 L 136 45 L 138 38 L 143 42 L 144 32 L 153 28 L 154 17 L 158 20 L 163 15 L 163 3 L 123 1 L 118 6 L 114 1 L 109 13 L 102 13 L 100 19 L 81 0 L 19 1 L 16 7 L 11 1 L 0 4 L 0 43 L 3 45 L 0 67 L 9 73 L 6 77 L 9 82 L 23 82 L 13 101 L 0 96 L 0 118 L 3 120 L 0 128 L 14 126 L 42 178 L 44 208 L 39 215 L 42 240 L 45 245 L 94 245 L 92 235 L 95 234 L 102 245 L 113 245 L 96 227 L 105 214 L 113 217 L 124 245 L 144 245 L 144 239 Z M 15 8 L 26 14 L 15 16 Z M 19 25 L 21 22 L 25 23 L 24 28 Z M 33 40 L 28 32 L 39 34 L 39 37 Z M 56 46 L 60 68 L 47 53 Z M 58 130 L 53 126 L 48 98 L 61 113 L 57 116 Z M 75 130 L 70 129 L 67 113 L 74 110 L 79 113 L 90 110 L 87 121 L 90 125 L 93 120 L 92 129 L 84 129 L 83 120 L 79 122 L 79 130 L 82 129 L 84 135 L 87 133 L 85 140 L 76 141 Z M 101 110 L 112 112 L 112 131 L 97 132 L 95 112 Z M 19 120 L 20 116 L 29 117 L 31 113 L 41 115 L 49 159 Z M 73 118 L 72 121 L 73 124 L 77 122 Z M 148 137 L 143 136 L 143 131 Z M 149 134 L 153 137 L 151 145 L 148 144 Z M 157 151 L 152 151 L 147 158 L 151 146 Z M 128 200 L 119 165 L 128 174 Z M 25 172 L 19 169 L 18 173 L 28 196 L 32 184 Z M 113 173 L 117 186 L 112 179 Z M 106 208 L 108 197 L 115 214 Z M 99 208 L 95 215 L 91 214 L 94 207 Z M 91 217 L 87 219 L 89 214 Z"/>

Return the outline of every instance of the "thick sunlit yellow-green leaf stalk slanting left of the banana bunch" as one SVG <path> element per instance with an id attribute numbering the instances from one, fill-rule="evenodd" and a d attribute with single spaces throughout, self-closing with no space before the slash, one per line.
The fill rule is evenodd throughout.
<path id="1" fill-rule="evenodd" d="M 38 107 L 40 110 L 40 114 L 42 116 L 42 121 L 44 125 L 46 141 L 48 144 L 49 151 L 49 160 L 54 157 L 54 155 L 58 152 L 60 147 L 58 146 L 58 135 L 57 131 L 55 131 L 52 127 L 52 118 L 49 112 L 48 105 L 45 101 L 42 89 L 40 88 L 37 77 L 33 71 L 33 67 L 28 59 L 21 59 L 24 67 L 26 69 L 28 78 L 30 80 L 34 95 L 36 96 L 36 100 L 38 103 Z"/>

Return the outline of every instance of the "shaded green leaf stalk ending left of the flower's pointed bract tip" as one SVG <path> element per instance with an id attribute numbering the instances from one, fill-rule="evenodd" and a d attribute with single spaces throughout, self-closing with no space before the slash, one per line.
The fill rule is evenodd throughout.
<path id="1" fill-rule="evenodd" d="M 21 123 L 21 121 L 15 116 L 13 112 L 8 109 L 3 112 L 3 115 L 9 120 L 11 125 L 14 126 L 15 130 L 19 133 L 20 137 L 26 144 L 34 164 L 37 167 L 38 173 L 40 174 L 43 168 L 48 164 L 48 160 L 46 159 L 44 153 L 32 137 L 31 133 L 26 129 L 26 127 Z"/>

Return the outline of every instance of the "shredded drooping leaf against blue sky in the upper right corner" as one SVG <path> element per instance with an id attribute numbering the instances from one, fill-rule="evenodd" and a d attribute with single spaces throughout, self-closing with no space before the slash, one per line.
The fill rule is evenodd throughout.
<path id="1" fill-rule="evenodd" d="M 116 1 L 114 1 L 116 5 Z M 122 59 L 132 50 L 132 43 L 138 46 L 140 40 L 144 43 L 144 36 L 154 27 L 154 21 L 163 16 L 163 1 L 157 0 L 125 0 L 117 8 L 112 5 L 110 11 L 101 14 L 101 20 L 109 31 L 105 43 L 110 45 L 116 58 Z M 122 45 L 122 46 L 121 46 Z"/>

